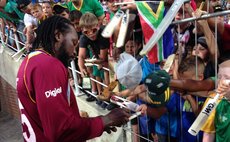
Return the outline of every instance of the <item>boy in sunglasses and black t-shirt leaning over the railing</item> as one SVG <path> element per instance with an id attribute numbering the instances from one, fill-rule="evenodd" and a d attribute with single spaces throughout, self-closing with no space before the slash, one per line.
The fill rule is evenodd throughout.
<path id="1" fill-rule="evenodd" d="M 104 27 L 98 25 L 97 17 L 92 13 L 85 13 L 80 19 L 80 27 L 82 28 L 82 36 L 80 38 L 79 53 L 78 53 L 78 65 L 82 74 L 82 77 L 88 76 L 89 71 L 85 66 L 85 59 L 88 57 L 95 57 L 96 60 L 92 63 L 99 64 L 99 67 L 93 66 L 93 74 L 97 81 L 104 80 L 105 84 L 109 84 L 109 73 L 102 70 L 103 67 L 108 67 L 108 47 L 109 39 L 101 36 L 101 32 Z M 91 56 L 87 54 L 90 52 Z M 102 87 L 97 83 L 97 88 L 92 82 L 92 92 L 94 94 L 101 93 Z M 92 98 L 92 96 L 91 96 Z M 104 106 L 105 107 L 105 106 Z"/>

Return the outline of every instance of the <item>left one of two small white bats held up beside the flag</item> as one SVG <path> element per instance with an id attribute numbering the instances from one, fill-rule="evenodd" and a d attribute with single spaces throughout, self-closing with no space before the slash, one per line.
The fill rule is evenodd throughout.
<path id="1" fill-rule="evenodd" d="M 109 38 L 112 36 L 115 28 L 118 26 L 118 24 L 121 21 L 121 18 L 123 17 L 124 12 L 119 10 L 115 13 L 112 20 L 107 24 L 105 29 L 102 31 L 101 35 L 105 38 Z"/>

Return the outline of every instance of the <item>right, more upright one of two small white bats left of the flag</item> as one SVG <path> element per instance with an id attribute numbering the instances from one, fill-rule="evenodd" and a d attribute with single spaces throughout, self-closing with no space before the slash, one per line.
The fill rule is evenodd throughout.
<path id="1" fill-rule="evenodd" d="M 122 17 L 121 27 L 119 30 L 116 47 L 120 48 L 125 44 L 125 37 L 129 25 L 129 9 L 126 10 L 125 15 Z"/>

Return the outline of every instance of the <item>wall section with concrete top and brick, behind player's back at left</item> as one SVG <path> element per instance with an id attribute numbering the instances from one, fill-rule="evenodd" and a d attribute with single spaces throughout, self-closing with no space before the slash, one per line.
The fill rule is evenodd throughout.
<path id="1" fill-rule="evenodd" d="M 14 52 L 5 49 L 0 54 L 0 105 L 1 111 L 7 112 L 15 118 L 20 118 L 17 93 L 16 74 L 20 62 L 15 62 L 11 55 Z"/>

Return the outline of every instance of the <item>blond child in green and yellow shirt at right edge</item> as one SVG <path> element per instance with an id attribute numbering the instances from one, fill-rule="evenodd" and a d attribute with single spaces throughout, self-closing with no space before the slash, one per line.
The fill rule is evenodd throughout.
<path id="1" fill-rule="evenodd" d="M 230 80 L 229 71 L 230 60 L 219 65 L 217 92 L 221 94 L 221 100 L 202 128 L 204 131 L 203 142 L 230 141 L 230 84 L 224 83 L 225 80 Z"/>

